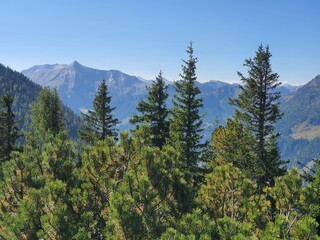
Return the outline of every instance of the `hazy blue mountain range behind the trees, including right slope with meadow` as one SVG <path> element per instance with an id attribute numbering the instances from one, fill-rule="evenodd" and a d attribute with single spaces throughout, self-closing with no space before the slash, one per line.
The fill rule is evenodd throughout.
<path id="1" fill-rule="evenodd" d="M 38 65 L 22 73 L 41 86 L 56 87 L 62 101 L 75 113 L 92 108 L 92 100 L 102 79 L 106 80 L 112 97 L 111 105 L 116 107 L 115 115 L 121 121 L 120 130 L 132 128 L 128 119 L 136 113 L 137 103 L 146 96 L 146 86 L 152 82 L 141 77 L 131 76 L 118 70 L 98 70 L 71 64 Z M 172 82 L 168 81 L 169 100 L 174 94 Z M 201 90 L 205 113 L 205 139 L 210 139 L 212 130 L 224 124 L 231 117 L 234 108 L 228 98 L 239 92 L 239 84 L 222 81 L 197 82 Z M 277 124 L 282 133 L 280 149 L 282 157 L 306 163 L 313 157 L 319 157 L 320 143 L 320 75 L 304 86 L 281 85 L 281 109 L 284 117 Z"/>

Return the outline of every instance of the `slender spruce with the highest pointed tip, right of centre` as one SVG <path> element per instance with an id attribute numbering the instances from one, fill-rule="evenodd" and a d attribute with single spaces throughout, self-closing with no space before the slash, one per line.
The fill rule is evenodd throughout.
<path id="1" fill-rule="evenodd" d="M 198 59 L 193 56 L 192 43 L 188 46 L 188 60 L 183 60 L 181 80 L 175 82 L 176 94 L 173 99 L 173 120 L 170 126 L 171 138 L 181 144 L 185 166 L 196 173 L 199 155 L 203 144 L 202 118 L 199 110 L 203 106 L 199 97 L 200 89 L 196 86 L 196 63 Z"/>

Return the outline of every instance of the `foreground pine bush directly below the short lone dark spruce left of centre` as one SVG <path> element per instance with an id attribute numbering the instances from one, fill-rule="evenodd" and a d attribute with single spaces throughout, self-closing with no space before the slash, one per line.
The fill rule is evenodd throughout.
<path id="1" fill-rule="evenodd" d="M 72 205 L 79 217 L 75 239 L 109 239 L 104 233 L 110 218 L 110 196 L 120 182 L 119 159 L 118 148 L 111 139 L 84 148 L 82 166 L 75 171 L 79 184 L 72 192 Z"/>

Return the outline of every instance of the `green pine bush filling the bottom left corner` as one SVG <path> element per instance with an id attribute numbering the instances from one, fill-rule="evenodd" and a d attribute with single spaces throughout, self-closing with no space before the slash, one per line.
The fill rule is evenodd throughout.
<path id="1" fill-rule="evenodd" d="M 71 239 L 77 216 L 70 202 L 74 146 L 66 131 L 47 134 L 40 146 L 24 146 L 3 166 L 0 238 Z"/>

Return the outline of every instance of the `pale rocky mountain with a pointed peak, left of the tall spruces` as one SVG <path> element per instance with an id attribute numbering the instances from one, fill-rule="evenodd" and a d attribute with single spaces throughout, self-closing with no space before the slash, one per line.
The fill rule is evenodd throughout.
<path id="1" fill-rule="evenodd" d="M 126 124 L 136 105 L 145 94 L 150 81 L 130 76 L 117 70 L 98 70 L 78 62 L 67 64 L 40 65 L 22 71 L 22 74 L 41 86 L 56 87 L 62 101 L 74 112 L 92 108 L 92 100 L 99 83 L 106 80 L 111 104 L 116 106 L 115 114 Z"/>

